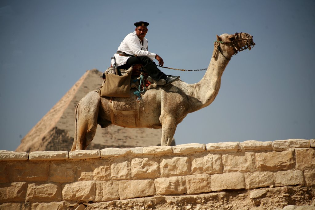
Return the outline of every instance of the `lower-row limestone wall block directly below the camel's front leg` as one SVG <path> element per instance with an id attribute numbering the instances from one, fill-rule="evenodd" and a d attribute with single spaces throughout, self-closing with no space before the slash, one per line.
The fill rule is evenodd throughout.
<path id="1" fill-rule="evenodd" d="M 157 178 L 154 180 L 157 195 L 184 194 L 186 190 L 186 178 L 183 176 Z"/>

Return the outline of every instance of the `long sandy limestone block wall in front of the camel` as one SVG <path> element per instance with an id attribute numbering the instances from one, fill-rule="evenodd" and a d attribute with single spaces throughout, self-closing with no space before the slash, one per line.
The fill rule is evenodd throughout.
<path id="1" fill-rule="evenodd" d="M 124 207 L 117 201 L 282 186 L 312 191 L 314 147 L 315 139 L 289 139 L 73 152 L 1 150 L 0 209 L 98 209 L 100 204 L 137 209 L 128 206 L 130 200 Z M 312 201 L 315 195 L 310 196 Z M 158 209 L 152 202 L 139 209 Z"/>

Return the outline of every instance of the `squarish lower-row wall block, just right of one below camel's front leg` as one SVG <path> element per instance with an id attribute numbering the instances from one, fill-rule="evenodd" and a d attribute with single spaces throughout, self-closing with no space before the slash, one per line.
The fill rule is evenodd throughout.
<path id="1" fill-rule="evenodd" d="M 210 175 L 195 174 L 186 176 L 186 188 L 188 194 L 211 192 Z"/>

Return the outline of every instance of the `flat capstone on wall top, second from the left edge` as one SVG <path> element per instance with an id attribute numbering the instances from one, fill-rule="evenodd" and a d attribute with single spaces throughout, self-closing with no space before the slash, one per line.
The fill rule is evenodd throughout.
<path id="1" fill-rule="evenodd" d="M 67 151 L 37 151 L 31 152 L 29 154 L 29 159 L 31 161 L 41 161 L 41 160 L 65 160 L 69 158 L 69 153 Z"/>

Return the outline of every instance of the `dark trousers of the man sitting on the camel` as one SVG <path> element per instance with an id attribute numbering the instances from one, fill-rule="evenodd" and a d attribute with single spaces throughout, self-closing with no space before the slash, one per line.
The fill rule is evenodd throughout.
<path id="1" fill-rule="evenodd" d="M 147 56 L 137 56 L 137 57 L 130 57 L 127 60 L 127 63 L 121 66 L 117 66 L 118 69 L 129 69 L 130 66 L 134 64 L 142 64 L 143 69 L 148 73 L 156 81 L 160 79 L 166 79 L 166 75 L 157 68 L 155 62 L 153 62 Z"/>

